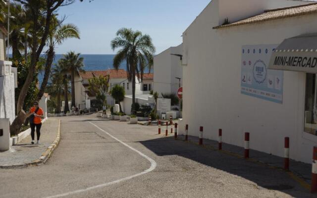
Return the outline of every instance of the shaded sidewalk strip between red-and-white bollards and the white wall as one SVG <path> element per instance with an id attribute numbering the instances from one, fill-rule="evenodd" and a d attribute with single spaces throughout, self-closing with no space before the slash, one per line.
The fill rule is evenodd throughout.
<path id="1" fill-rule="evenodd" d="M 185 139 L 184 135 L 178 135 L 178 140 L 183 141 Z M 198 144 L 199 138 L 194 136 L 188 136 L 189 143 Z M 218 150 L 218 142 L 209 139 L 203 139 L 203 146 L 206 148 L 210 148 L 213 150 Z M 234 155 L 239 158 L 244 158 L 244 148 L 238 147 L 230 144 L 226 144 L 222 142 L 222 150 L 221 152 L 229 155 Z M 270 168 L 283 169 L 284 167 L 284 158 L 276 155 L 268 154 L 265 152 L 257 151 L 250 149 L 250 161 L 262 163 L 267 165 Z M 309 189 L 312 175 L 312 165 L 295 161 L 290 159 L 289 162 L 289 175 L 293 177 L 293 179 L 297 180 L 304 188 Z M 292 173 L 294 175 L 292 175 Z M 299 180 L 298 180 L 299 179 Z"/>

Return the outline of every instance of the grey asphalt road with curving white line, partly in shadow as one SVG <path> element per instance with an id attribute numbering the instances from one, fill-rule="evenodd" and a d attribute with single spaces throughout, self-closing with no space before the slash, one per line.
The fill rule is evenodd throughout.
<path id="1" fill-rule="evenodd" d="M 45 165 L 0 169 L 0 197 L 317 196 L 283 171 L 175 141 L 158 135 L 154 126 L 90 115 L 62 117 L 60 144 Z"/>

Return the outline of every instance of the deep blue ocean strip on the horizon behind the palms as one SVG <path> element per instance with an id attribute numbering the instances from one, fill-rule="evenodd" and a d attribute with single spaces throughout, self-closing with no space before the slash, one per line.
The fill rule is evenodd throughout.
<path id="1" fill-rule="evenodd" d="M 84 57 L 84 70 L 92 71 L 92 70 L 106 70 L 113 69 L 113 57 L 115 54 L 81 54 L 81 57 Z M 56 64 L 57 61 L 63 57 L 63 54 L 56 54 L 53 64 Z M 53 66 L 52 66 L 53 67 Z M 121 69 L 126 70 L 125 61 L 120 65 Z M 148 72 L 146 69 L 145 72 Z M 44 78 L 44 72 L 39 74 L 39 82 L 40 85 Z"/>

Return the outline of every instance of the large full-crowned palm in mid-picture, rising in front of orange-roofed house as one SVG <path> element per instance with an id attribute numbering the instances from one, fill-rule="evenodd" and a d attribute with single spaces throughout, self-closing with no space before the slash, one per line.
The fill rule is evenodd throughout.
<path id="1" fill-rule="evenodd" d="M 132 81 L 132 114 L 135 114 L 135 76 L 143 80 L 145 67 L 149 70 L 153 66 L 155 47 L 149 35 L 140 31 L 122 28 L 116 33 L 116 38 L 111 41 L 112 50 L 120 48 L 113 58 L 113 67 L 119 69 L 121 62 L 126 61 L 128 81 Z M 141 74 L 141 76 L 139 75 Z"/>

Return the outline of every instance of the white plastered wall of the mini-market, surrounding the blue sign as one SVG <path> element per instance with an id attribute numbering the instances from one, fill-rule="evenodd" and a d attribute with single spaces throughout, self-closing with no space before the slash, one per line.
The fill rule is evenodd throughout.
<path id="1" fill-rule="evenodd" d="M 183 67 L 183 122 L 189 134 L 198 136 L 204 126 L 204 137 L 217 140 L 222 128 L 223 142 L 243 147 L 248 131 L 252 149 L 278 156 L 284 155 L 288 136 L 290 157 L 310 163 L 317 136 L 303 132 L 305 73 L 284 71 L 282 104 L 242 95 L 241 49 L 317 32 L 316 19 L 311 14 L 213 30 L 219 20 L 218 0 L 212 0 L 183 34 L 188 63 Z"/>

